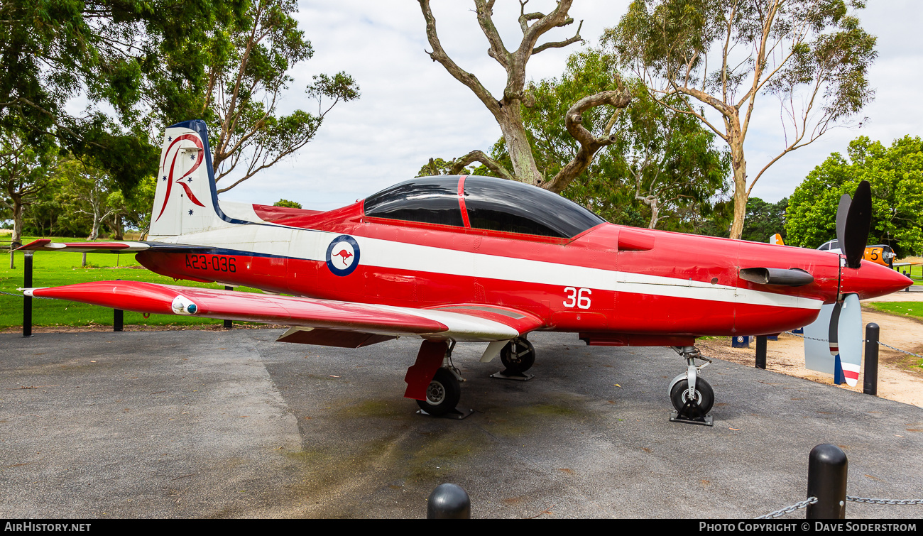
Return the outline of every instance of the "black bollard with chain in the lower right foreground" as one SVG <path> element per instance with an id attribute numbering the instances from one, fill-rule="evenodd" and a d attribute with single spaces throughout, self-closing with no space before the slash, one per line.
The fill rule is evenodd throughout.
<path id="1" fill-rule="evenodd" d="M 817 503 L 808 505 L 805 518 L 844 519 L 846 517 L 846 470 L 849 463 L 840 447 L 824 443 L 811 448 L 808 457 L 808 496 Z"/>

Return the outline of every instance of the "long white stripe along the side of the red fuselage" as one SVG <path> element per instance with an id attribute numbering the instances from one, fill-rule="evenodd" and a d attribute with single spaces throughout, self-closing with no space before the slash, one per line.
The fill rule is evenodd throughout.
<path id="1" fill-rule="evenodd" d="M 206 245 L 262 255 L 288 256 L 326 262 L 330 241 L 342 233 L 299 229 L 276 224 L 234 225 L 219 230 L 160 237 L 172 244 Z M 821 308 L 821 300 L 787 294 L 740 289 L 703 281 L 681 280 L 603 268 L 586 268 L 469 251 L 443 249 L 429 245 L 390 242 L 351 235 L 359 244 L 360 264 L 397 271 L 422 271 L 493 280 L 520 281 L 670 296 L 709 302 L 772 305 L 797 309 Z"/>

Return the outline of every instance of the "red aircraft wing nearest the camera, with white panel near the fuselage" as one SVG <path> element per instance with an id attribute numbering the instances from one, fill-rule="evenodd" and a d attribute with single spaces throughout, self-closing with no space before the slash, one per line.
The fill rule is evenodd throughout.
<path id="1" fill-rule="evenodd" d="M 396 337 L 506 341 L 542 325 L 537 316 L 508 307 L 460 304 L 415 309 L 139 281 L 91 281 L 23 292 L 138 313 L 282 324 L 294 327 L 282 335 L 282 341 L 350 348 Z"/>

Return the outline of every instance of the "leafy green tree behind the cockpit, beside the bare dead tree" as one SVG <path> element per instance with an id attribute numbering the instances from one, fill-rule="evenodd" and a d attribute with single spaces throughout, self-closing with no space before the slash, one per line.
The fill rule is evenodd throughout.
<path id="1" fill-rule="evenodd" d="M 673 112 L 654 101 L 637 78 L 624 82 L 609 54 L 587 50 L 571 54 L 560 77 L 530 83 L 531 106 L 523 124 L 539 170 L 554 176 L 581 150 L 560 118 L 569 102 L 616 85 L 629 90 L 631 102 L 615 113 L 596 108 L 583 113 L 583 125 L 602 131 L 612 143 L 564 190 L 563 195 L 617 222 L 654 229 L 672 219 L 673 230 L 689 230 L 681 208 L 710 212 L 713 197 L 726 189 L 727 151 L 715 147 L 714 134 L 694 117 Z M 497 160 L 509 161 L 497 143 Z M 626 212 L 625 206 L 634 210 Z M 706 214 L 708 216 L 710 214 Z"/>

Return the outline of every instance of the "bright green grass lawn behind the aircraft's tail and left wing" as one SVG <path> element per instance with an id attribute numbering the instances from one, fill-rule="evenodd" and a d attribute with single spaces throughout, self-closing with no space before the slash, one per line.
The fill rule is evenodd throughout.
<path id="1" fill-rule="evenodd" d="M 33 238 L 23 238 L 29 244 Z M 77 238 L 53 238 L 54 242 L 85 242 Z M 17 291 L 23 285 L 23 254 L 15 252 L 16 268 L 9 268 L 9 252 L 3 251 L 0 259 L 0 329 L 22 326 L 22 293 Z M 151 283 L 175 284 L 207 289 L 223 289 L 218 283 L 198 283 L 179 280 L 155 274 L 141 267 L 135 254 L 88 254 L 88 268 L 80 268 L 83 254 L 37 251 L 32 257 L 32 286 L 58 287 L 86 281 L 126 280 Z M 91 267 L 91 268 L 90 268 Z M 235 290 L 258 292 L 244 287 Z M 140 313 L 126 311 L 125 325 L 140 326 L 197 326 L 222 324 L 221 320 L 197 316 L 151 315 L 144 318 Z M 96 305 L 78 304 L 63 300 L 32 300 L 32 326 L 112 326 L 113 310 Z"/>

